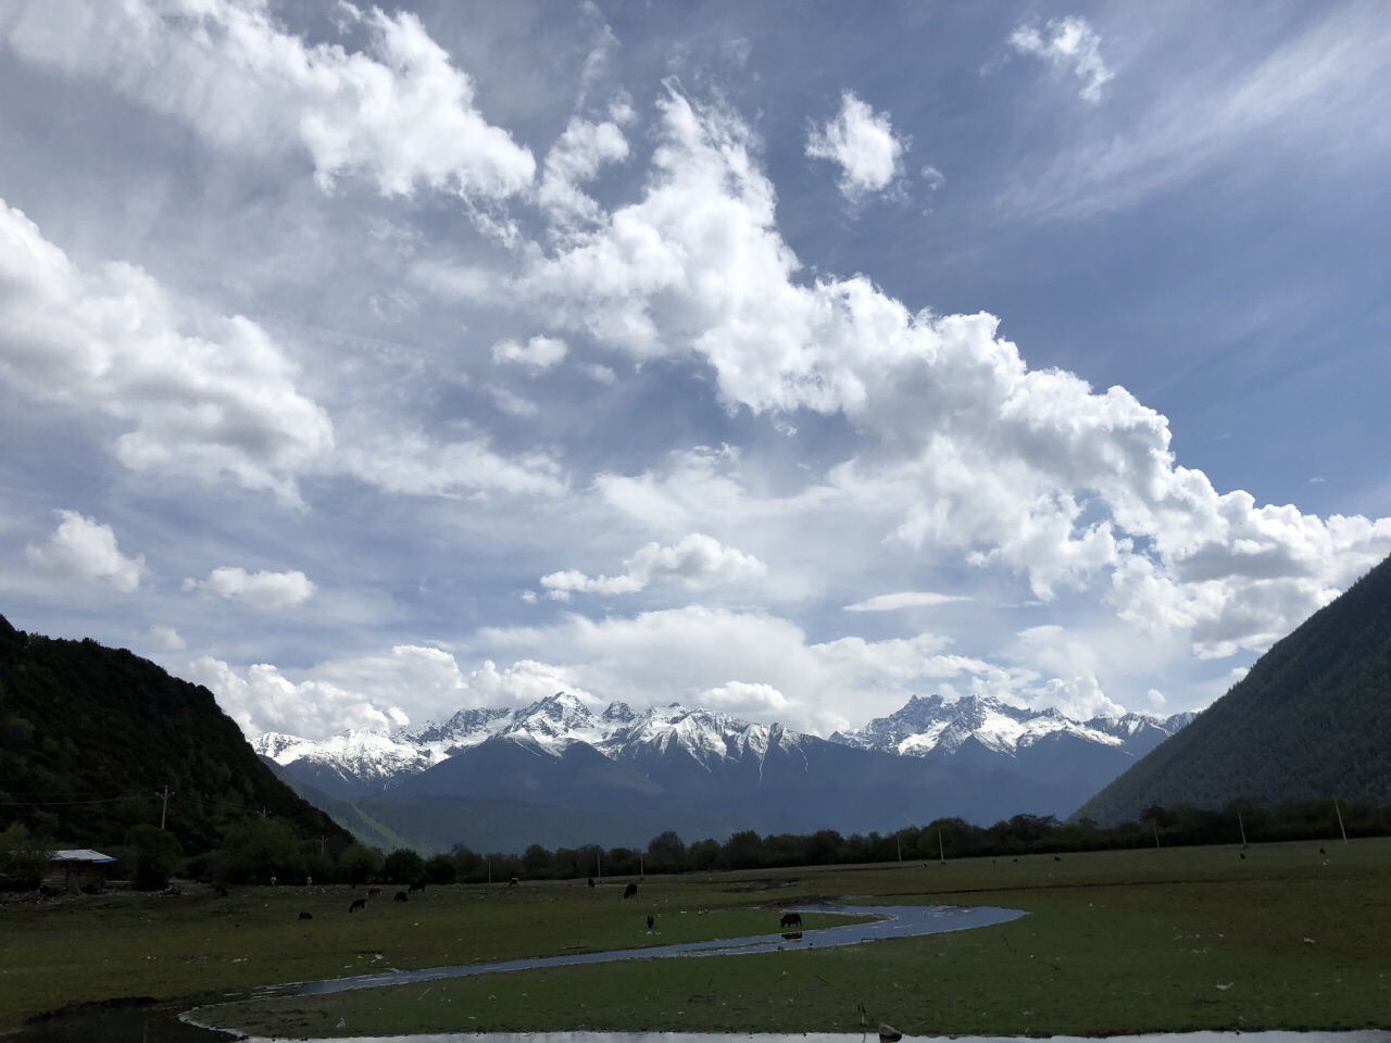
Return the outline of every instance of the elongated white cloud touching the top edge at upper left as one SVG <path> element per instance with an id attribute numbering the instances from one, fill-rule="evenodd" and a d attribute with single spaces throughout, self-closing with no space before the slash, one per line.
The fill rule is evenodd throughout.
<path id="1" fill-rule="evenodd" d="M 263 0 L 33 0 L 7 43 L 220 147 L 302 149 L 325 189 L 357 175 L 388 196 L 428 188 L 485 202 L 530 186 L 531 153 L 480 114 L 473 82 L 416 15 L 338 10 L 366 29 L 367 51 L 309 45 Z"/>

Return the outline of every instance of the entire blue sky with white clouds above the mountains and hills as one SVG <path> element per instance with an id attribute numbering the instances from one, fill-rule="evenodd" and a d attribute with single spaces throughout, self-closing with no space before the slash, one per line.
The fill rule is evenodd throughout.
<path id="1" fill-rule="evenodd" d="M 1391 553 L 1381 3 L 0 0 L 0 612 L 242 729 L 1220 697 Z"/>

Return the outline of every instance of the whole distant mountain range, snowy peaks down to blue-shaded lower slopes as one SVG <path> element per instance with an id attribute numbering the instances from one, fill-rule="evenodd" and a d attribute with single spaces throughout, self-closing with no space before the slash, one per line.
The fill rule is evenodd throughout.
<path id="1" fill-rule="evenodd" d="M 892 830 L 940 816 L 1066 815 L 1191 720 L 1071 720 L 986 697 L 914 697 L 829 740 L 679 704 L 593 712 L 569 693 L 465 709 L 395 734 L 253 748 L 306 793 L 348 801 L 421 848 L 645 844 Z"/>

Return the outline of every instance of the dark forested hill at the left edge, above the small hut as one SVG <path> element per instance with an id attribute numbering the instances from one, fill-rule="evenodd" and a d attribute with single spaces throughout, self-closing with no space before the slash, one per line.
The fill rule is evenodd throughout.
<path id="1" fill-rule="evenodd" d="M 160 823 L 189 854 L 250 815 L 346 841 L 280 782 L 213 694 L 125 649 L 15 630 L 0 616 L 0 830 L 21 822 L 74 847 Z"/>

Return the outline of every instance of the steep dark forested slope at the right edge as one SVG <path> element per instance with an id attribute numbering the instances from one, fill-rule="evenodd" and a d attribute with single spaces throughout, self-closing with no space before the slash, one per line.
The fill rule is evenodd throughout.
<path id="1" fill-rule="evenodd" d="M 1313 797 L 1391 804 L 1391 559 L 1075 818 L 1106 825 L 1155 804 L 1216 809 Z"/>

